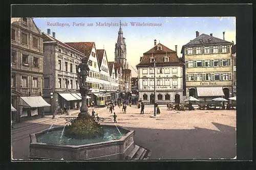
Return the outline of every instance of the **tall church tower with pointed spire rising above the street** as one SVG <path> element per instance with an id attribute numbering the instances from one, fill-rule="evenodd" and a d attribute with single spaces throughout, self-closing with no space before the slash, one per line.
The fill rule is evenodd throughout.
<path id="1" fill-rule="evenodd" d="M 121 28 L 121 21 L 120 21 L 120 28 L 118 32 L 117 43 L 115 46 L 115 63 L 121 63 L 123 68 L 127 69 L 126 44 L 125 44 L 125 38 L 123 37 L 123 32 Z"/>

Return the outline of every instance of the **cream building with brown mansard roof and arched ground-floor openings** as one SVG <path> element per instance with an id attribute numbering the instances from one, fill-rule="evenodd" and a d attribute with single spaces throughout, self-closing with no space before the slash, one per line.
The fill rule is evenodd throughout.
<path id="1" fill-rule="evenodd" d="M 139 99 L 144 103 L 154 104 L 155 82 L 158 104 L 182 102 L 183 65 L 184 63 L 177 56 L 177 50 L 170 50 L 154 40 L 154 47 L 143 54 L 137 65 Z M 155 79 L 154 72 L 156 72 Z"/>

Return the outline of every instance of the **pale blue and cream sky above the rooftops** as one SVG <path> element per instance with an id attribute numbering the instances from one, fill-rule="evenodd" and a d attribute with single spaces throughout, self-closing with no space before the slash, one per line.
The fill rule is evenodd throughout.
<path id="1" fill-rule="evenodd" d="M 96 49 L 106 50 L 108 61 L 114 61 L 120 20 L 124 24 L 126 59 L 132 77 L 137 77 L 136 65 L 143 53 L 154 47 L 154 39 L 174 51 L 177 45 L 178 57 L 181 57 L 182 45 L 196 38 L 196 31 L 199 35 L 212 33 L 221 39 L 225 31 L 225 40 L 236 44 L 236 17 L 34 18 L 42 32 L 51 29 L 62 42 L 95 42 Z M 116 23 L 116 26 L 98 26 L 99 22 Z M 132 26 L 134 22 L 157 23 L 158 26 Z M 64 23 L 66 26 L 61 27 Z"/>

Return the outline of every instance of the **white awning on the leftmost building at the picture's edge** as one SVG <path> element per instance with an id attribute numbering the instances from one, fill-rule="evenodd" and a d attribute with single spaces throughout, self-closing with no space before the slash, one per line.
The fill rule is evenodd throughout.
<path id="1" fill-rule="evenodd" d="M 22 96 L 20 97 L 30 107 L 45 107 L 51 106 L 41 96 Z"/>

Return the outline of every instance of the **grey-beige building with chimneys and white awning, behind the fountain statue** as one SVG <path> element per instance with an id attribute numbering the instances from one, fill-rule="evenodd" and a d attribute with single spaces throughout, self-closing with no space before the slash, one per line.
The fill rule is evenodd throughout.
<path id="1" fill-rule="evenodd" d="M 81 105 L 81 94 L 77 82 L 76 68 L 81 62 L 83 53 L 55 38 L 50 29 L 44 35 L 44 99 L 51 103 L 46 108 L 53 113 L 56 109 Z"/>

